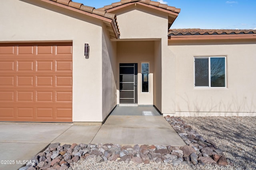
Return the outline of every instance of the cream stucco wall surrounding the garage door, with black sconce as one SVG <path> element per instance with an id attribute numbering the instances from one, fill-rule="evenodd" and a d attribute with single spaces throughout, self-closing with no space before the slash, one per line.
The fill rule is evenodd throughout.
<path id="1" fill-rule="evenodd" d="M 102 21 L 36 0 L 0 6 L 0 42 L 73 42 L 73 121 L 102 121 Z"/>

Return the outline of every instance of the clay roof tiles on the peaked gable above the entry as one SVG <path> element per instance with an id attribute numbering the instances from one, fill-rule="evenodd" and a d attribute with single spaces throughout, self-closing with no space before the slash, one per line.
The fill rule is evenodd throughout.
<path id="1" fill-rule="evenodd" d="M 148 4 L 148 5 L 156 6 L 156 7 L 168 10 L 168 11 L 180 13 L 180 8 L 175 8 L 173 6 L 168 6 L 166 4 L 161 4 L 160 2 L 156 2 L 156 1 L 152 1 L 152 0 L 121 0 L 120 2 L 112 3 L 110 5 L 104 6 L 103 8 L 98 8 L 98 10 L 106 11 L 106 10 L 110 10 L 112 8 L 115 8 L 117 6 L 121 6 L 123 4 L 128 4 L 128 3 L 131 3 L 131 2 L 141 2 L 143 4 Z"/>

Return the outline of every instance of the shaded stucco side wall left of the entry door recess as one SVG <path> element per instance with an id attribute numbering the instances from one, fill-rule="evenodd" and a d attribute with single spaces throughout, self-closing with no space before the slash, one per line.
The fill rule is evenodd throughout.
<path id="1" fill-rule="evenodd" d="M 102 33 L 102 121 L 116 106 L 116 42 L 109 39 L 106 27 Z"/>

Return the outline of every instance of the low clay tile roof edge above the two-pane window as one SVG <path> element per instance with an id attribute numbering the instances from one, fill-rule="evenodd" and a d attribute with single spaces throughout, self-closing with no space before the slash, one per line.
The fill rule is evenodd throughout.
<path id="1" fill-rule="evenodd" d="M 168 36 L 171 35 L 232 35 L 232 34 L 256 34 L 253 29 L 169 29 Z"/>

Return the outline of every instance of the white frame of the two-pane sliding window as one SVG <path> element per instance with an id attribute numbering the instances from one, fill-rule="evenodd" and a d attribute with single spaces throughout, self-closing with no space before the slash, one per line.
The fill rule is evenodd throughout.
<path id="1" fill-rule="evenodd" d="M 224 58 L 225 59 L 225 86 L 224 87 L 211 87 L 211 58 Z M 209 86 L 196 86 L 196 72 L 195 72 L 195 67 L 196 67 L 196 59 L 208 59 L 208 77 L 209 77 Z M 227 68 L 227 62 L 226 62 L 226 56 L 200 56 L 200 57 L 197 57 L 195 56 L 194 57 L 194 88 L 227 88 L 227 71 L 226 71 L 226 68 Z"/>

